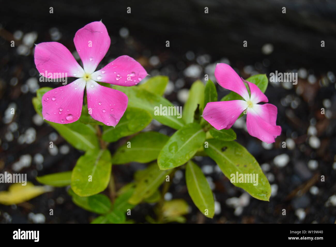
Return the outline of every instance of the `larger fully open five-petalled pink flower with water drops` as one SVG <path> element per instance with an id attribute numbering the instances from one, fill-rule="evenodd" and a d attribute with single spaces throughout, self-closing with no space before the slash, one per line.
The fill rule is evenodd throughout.
<path id="1" fill-rule="evenodd" d="M 35 65 L 47 78 L 77 77 L 72 83 L 57 87 L 42 97 L 42 115 L 51 122 L 70 124 L 81 116 L 86 86 L 89 114 L 106 125 L 116 126 L 128 103 L 127 96 L 96 81 L 133 86 L 147 76 L 145 69 L 128 56 L 121 56 L 95 71 L 110 47 L 110 37 L 102 22 L 92 22 L 74 37 L 84 69 L 71 52 L 58 42 L 44 42 L 35 47 Z"/>

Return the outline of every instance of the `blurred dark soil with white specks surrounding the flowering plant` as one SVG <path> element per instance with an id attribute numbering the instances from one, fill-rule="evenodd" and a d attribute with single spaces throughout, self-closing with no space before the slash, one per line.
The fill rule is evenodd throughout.
<path id="1" fill-rule="evenodd" d="M 37 175 L 75 166 L 83 153 L 43 122 L 31 103 L 39 87 L 60 86 L 39 82 L 34 43 L 60 42 L 79 61 L 73 43 L 76 31 L 102 20 L 111 47 L 101 65 L 128 55 L 151 76 L 169 76 L 165 97 L 178 106 L 186 101 L 192 82 L 204 81 L 205 74 L 215 81 L 218 62 L 230 64 L 245 79 L 258 73 L 269 77 L 276 70 L 298 73 L 297 85 L 270 82 L 265 92 L 269 103 L 278 107 L 277 124 L 282 127 L 275 143 L 265 145 L 249 136 L 245 117 L 233 127 L 237 141 L 255 156 L 271 184 L 270 202 L 258 201 L 232 185 L 210 158 L 196 157 L 213 189 L 216 212 L 208 219 L 198 211 L 187 193 L 184 170 L 180 170 L 165 198 L 187 201 L 191 210 L 187 223 L 335 223 L 335 1 L 47 0 L 1 1 L 1 6 L 0 173 L 27 173 L 28 181 L 39 184 Z M 166 47 L 167 40 L 170 47 Z M 245 40 L 247 47 L 243 47 Z M 228 91 L 216 86 L 221 99 Z M 156 121 L 147 130 L 173 133 Z M 50 141 L 54 142 L 52 149 L 48 148 Z M 283 141 L 286 148 L 282 148 Z M 119 145 L 111 144 L 110 151 Z M 113 166 L 116 187 L 132 181 L 133 173 L 144 167 L 135 163 Z M 0 183 L 0 191 L 8 186 Z M 55 209 L 52 216 L 50 208 Z M 146 215 L 155 217 L 152 205 L 136 206 L 130 217 L 144 223 Z M 65 188 L 19 205 L 0 205 L 1 223 L 89 223 L 95 217 L 74 205 Z"/>

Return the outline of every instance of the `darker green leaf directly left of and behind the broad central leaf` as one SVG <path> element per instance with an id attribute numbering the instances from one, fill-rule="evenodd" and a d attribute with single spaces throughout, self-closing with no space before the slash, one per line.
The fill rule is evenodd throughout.
<path id="1" fill-rule="evenodd" d="M 168 139 L 168 136 L 154 131 L 139 133 L 117 149 L 113 155 L 113 164 L 154 161 Z"/>

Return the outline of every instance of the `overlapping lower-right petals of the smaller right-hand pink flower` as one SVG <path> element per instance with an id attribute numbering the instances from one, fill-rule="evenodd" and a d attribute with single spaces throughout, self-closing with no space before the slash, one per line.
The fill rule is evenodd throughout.
<path id="1" fill-rule="evenodd" d="M 274 138 L 281 134 L 281 127 L 275 125 L 274 108 L 266 106 L 254 109 L 255 106 L 247 109 L 246 125 L 248 133 L 266 143 L 275 142 Z"/>

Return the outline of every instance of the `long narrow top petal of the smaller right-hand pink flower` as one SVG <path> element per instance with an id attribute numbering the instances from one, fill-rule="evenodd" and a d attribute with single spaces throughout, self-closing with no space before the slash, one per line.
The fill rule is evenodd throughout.
<path id="1" fill-rule="evenodd" d="M 215 77 L 219 85 L 225 89 L 236 92 L 248 101 L 250 99 L 246 86 L 236 71 L 228 64 L 217 64 Z"/>

